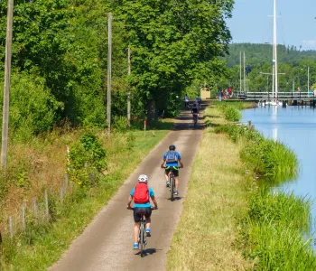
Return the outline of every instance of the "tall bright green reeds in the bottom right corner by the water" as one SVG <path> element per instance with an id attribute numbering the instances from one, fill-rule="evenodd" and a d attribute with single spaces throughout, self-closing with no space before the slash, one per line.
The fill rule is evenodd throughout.
<path id="1" fill-rule="evenodd" d="M 253 192 L 239 245 L 245 257 L 255 261 L 255 270 L 311 270 L 316 258 L 310 229 L 311 201 L 293 194 L 271 193 L 266 187 Z"/>

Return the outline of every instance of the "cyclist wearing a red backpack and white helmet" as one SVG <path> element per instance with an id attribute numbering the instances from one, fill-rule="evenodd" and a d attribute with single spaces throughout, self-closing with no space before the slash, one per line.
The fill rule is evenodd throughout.
<path id="1" fill-rule="evenodd" d="M 144 213 L 146 218 L 146 235 L 151 236 L 150 224 L 152 215 L 152 206 L 150 199 L 152 199 L 154 208 L 158 208 L 157 201 L 154 198 L 153 189 L 147 185 L 148 177 L 146 175 L 140 175 L 138 177 L 138 183 L 135 188 L 132 189 L 128 201 L 127 209 L 132 209 L 131 203 L 134 200 L 134 249 L 138 249 L 138 234 L 140 228 L 140 213 Z"/>

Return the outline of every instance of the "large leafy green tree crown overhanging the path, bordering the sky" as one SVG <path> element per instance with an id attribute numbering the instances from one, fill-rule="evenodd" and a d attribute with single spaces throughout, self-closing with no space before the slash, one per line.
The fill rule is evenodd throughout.
<path id="1" fill-rule="evenodd" d="M 225 18 L 232 1 L 113 3 L 132 50 L 132 86 L 144 104 L 155 100 L 158 110 L 175 115 L 183 90 L 194 79 L 208 80 L 218 72 L 213 68 L 228 49 Z"/>

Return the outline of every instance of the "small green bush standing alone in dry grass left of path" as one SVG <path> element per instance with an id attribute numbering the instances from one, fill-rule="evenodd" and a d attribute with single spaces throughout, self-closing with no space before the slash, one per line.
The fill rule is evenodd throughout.
<path id="1" fill-rule="evenodd" d="M 106 150 L 96 135 L 82 135 L 79 141 L 70 147 L 70 179 L 82 187 L 94 185 L 107 167 Z"/>

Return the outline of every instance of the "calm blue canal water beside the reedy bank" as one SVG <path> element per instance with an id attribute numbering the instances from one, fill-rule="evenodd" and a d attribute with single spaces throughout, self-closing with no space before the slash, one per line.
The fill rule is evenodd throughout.
<path id="1" fill-rule="evenodd" d="M 256 130 L 278 139 L 293 149 L 300 161 L 296 180 L 282 188 L 311 197 L 312 218 L 316 218 L 316 110 L 311 107 L 257 107 L 243 111 L 242 121 L 251 120 Z"/>

